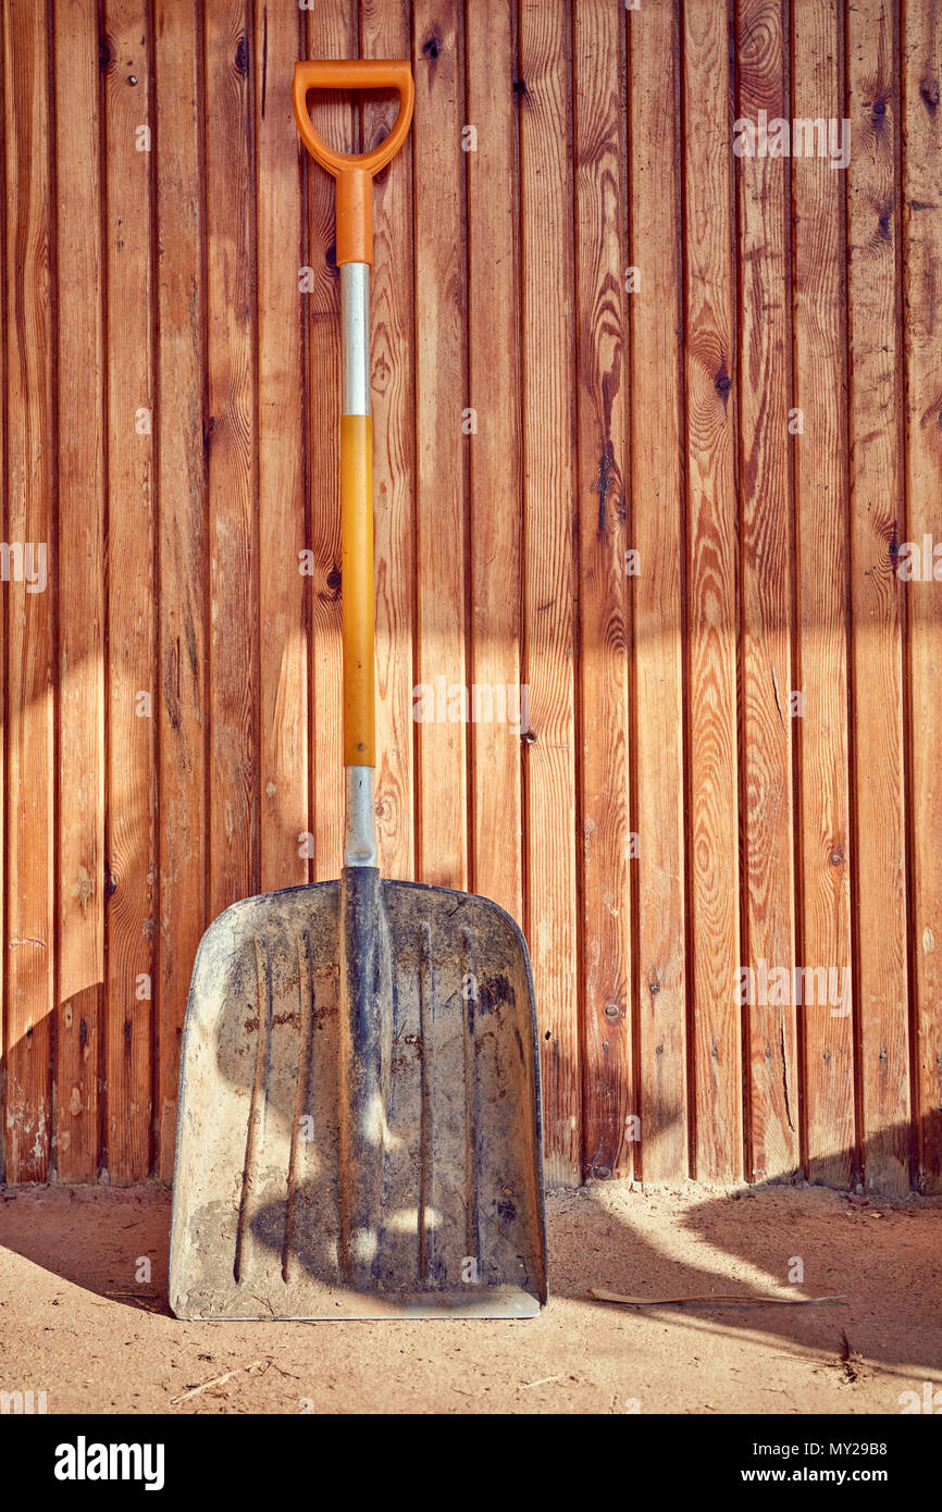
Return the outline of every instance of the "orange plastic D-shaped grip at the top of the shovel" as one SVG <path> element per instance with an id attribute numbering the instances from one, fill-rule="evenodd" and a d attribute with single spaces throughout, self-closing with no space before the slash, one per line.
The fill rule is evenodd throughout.
<path id="1" fill-rule="evenodd" d="M 307 110 L 308 89 L 398 89 L 399 113 L 389 136 L 370 153 L 336 153 L 318 136 Z M 396 156 L 413 118 L 413 71 L 405 60 L 327 57 L 295 64 L 295 121 L 311 157 L 337 180 L 337 263 L 372 263 L 372 178 Z"/>

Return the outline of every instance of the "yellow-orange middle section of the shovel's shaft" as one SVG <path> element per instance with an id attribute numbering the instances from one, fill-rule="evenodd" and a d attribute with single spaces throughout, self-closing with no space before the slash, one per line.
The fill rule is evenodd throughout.
<path id="1" fill-rule="evenodd" d="M 340 420 L 340 581 L 343 594 L 343 765 L 376 765 L 373 632 L 373 422 Z"/>

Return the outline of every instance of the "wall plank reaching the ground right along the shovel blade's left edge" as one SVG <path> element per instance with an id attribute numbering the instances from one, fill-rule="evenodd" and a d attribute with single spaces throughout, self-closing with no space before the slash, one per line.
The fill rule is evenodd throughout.
<path id="1" fill-rule="evenodd" d="M 203 32 L 156 0 L 159 697 L 159 1151 L 171 1181 L 180 1042 L 206 928 L 207 496 L 203 336 Z M 184 230 L 186 228 L 186 230 Z"/>

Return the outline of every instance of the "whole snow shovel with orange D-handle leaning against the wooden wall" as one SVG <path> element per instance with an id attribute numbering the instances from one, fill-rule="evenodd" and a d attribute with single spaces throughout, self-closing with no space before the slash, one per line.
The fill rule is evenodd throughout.
<path id="1" fill-rule="evenodd" d="M 331 151 L 310 89 L 389 89 L 372 151 Z M 336 178 L 343 761 L 339 881 L 233 904 L 183 1034 L 169 1302 L 181 1318 L 528 1317 L 546 1300 L 526 945 L 494 903 L 380 875 L 369 407 L 372 177 L 408 62 L 301 62 L 301 136 Z"/>

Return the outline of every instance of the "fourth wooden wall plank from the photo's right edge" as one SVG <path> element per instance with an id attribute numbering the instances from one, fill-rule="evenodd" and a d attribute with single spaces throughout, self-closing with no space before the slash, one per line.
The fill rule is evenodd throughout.
<path id="1" fill-rule="evenodd" d="M 788 118 L 783 0 L 741 0 L 736 116 Z M 744 965 L 795 963 L 789 467 L 791 322 L 788 165 L 738 159 L 739 497 L 742 511 L 742 783 L 745 813 Z M 764 995 L 765 996 L 765 995 Z M 771 995 L 770 995 L 771 996 Z M 795 1004 L 745 1007 L 747 1161 L 753 1181 L 800 1166 Z"/>

